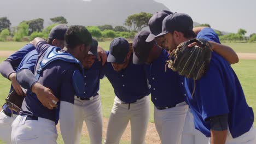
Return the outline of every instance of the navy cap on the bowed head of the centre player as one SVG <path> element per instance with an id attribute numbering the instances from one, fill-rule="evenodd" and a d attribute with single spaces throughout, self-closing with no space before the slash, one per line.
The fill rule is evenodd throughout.
<path id="1" fill-rule="evenodd" d="M 107 62 L 122 64 L 128 52 L 128 41 L 124 38 L 115 38 L 110 43 Z"/>

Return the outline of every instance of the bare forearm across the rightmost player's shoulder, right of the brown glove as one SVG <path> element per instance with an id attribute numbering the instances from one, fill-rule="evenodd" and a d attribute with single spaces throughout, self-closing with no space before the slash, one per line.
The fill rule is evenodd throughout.
<path id="1" fill-rule="evenodd" d="M 224 57 L 230 64 L 238 63 L 239 59 L 236 52 L 231 47 L 209 41 L 212 45 L 214 52 L 217 52 L 220 56 Z"/>

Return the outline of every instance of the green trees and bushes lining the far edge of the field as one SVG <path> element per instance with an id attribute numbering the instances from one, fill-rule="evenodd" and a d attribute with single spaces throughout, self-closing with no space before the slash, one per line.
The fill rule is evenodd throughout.
<path id="1" fill-rule="evenodd" d="M 92 37 L 103 40 L 105 38 L 133 38 L 138 31 L 148 26 L 148 21 L 152 17 L 149 13 L 133 14 L 127 17 L 124 26 L 102 25 L 102 26 L 86 26 L 91 32 Z M 54 26 L 58 24 L 67 24 L 67 19 L 63 16 L 50 18 L 52 25 L 44 29 L 44 20 L 41 18 L 30 21 L 22 21 L 17 27 L 10 27 L 11 22 L 7 17 L 0 17 L 0 41 L 6 41 L 12 38 L 15 41 L 32 40 L 36 37 L 47 38 L 48 34 Z M 211 27 L 208 23 L 203 23 L 199 26 Z M 245 37 L 247 33 L 245 29 L 238 29 L 237 33 L 223 34 L 218 30 L 214 30 L 221 41 L 237 41 L 245 40 L 249 42 L 256 41 L 256 34 L 253 33 L 249 37 Z"/>

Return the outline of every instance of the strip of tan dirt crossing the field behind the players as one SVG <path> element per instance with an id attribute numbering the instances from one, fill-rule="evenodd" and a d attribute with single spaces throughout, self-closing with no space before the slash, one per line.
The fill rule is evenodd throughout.
<path id="1" fill-rule="evenodd" d="M 15 51 L 0 51 L 0 57 L 8 57 Z M 237 53 L 239 59 L 256 59 L 256 53 Z"/>

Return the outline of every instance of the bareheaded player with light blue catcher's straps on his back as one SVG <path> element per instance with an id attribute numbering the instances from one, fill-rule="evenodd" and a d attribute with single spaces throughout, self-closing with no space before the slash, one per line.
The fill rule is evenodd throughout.
<path id="1" fill-rule="evenodd" d="M 41 38 L 34 39 L 33 44 L 39 53 L 35 76 L 28 75 L 30 73 L 26 69 L 19 70 L 16 76 L 28 92 L 22 111 L 12 124 L 12 143 L 56 143 L 55 125 L 59 119 L 63 141 L 75 141 L 74 95 L 82 97 L 84 91 L 83 67 L 80 62 L 88 55 L 91 41 L 91 34 L 84 26 L 71 26 L 67 29 L 63 50 L 50 46 Z M 57 102 L 57 107 L 48 109 L 32 93 L 37 91 L 33 87 L 39 83 L 51 89 L 50 92 L 59 100 L 53 100 L 53 103 Z"/>

